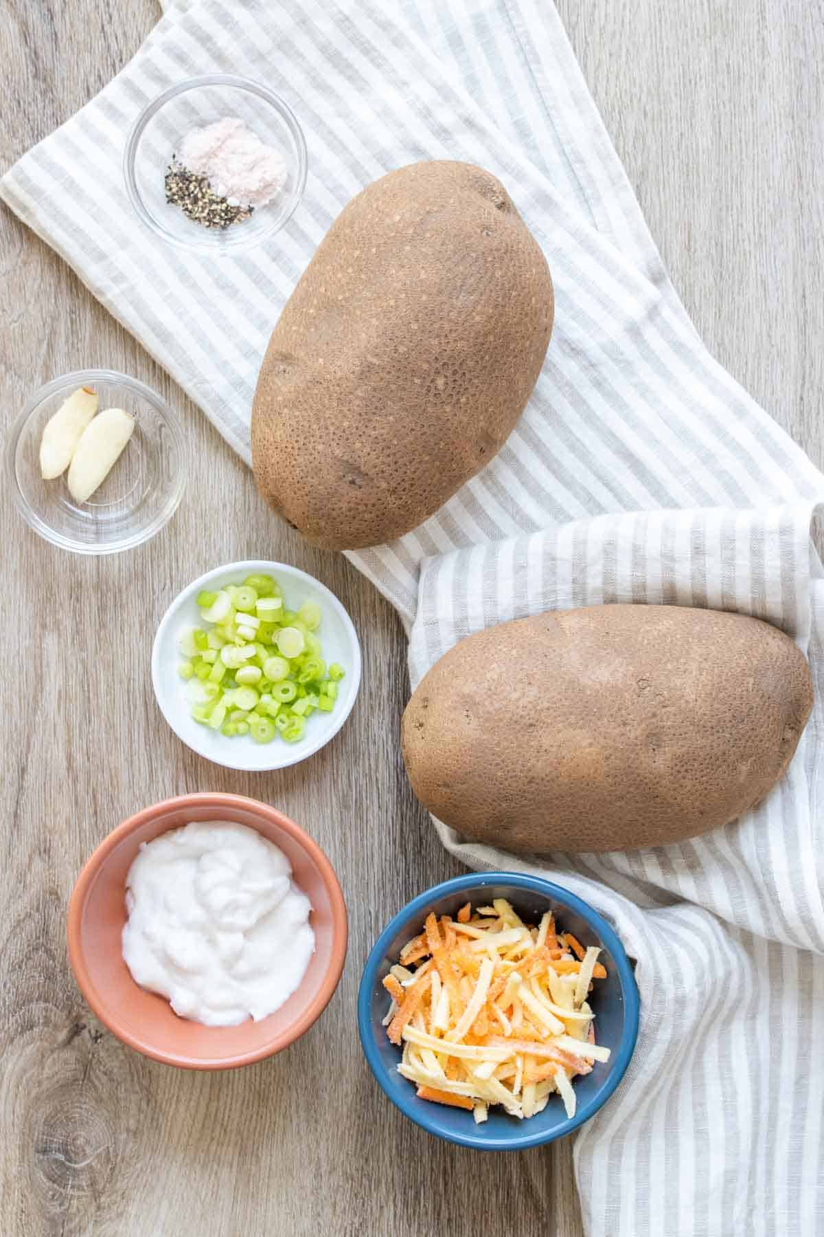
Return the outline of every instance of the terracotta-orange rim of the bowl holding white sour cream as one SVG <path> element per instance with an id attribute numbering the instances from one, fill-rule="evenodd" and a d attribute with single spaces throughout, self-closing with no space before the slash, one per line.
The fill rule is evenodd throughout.
<path id="1" fill-rule="evenodd" d="M 294 841 L 296 841 L 311 856 L 321 873 L 324 886 L 330 899 L 334 927 L 332 954 L 324 982 L 314 1001 L 306 1006 L 300 1017 L 285 1028 L 285 1030 L 282 1030 L 278 1035 L 273 1037 L 269 1043 L 263 1044 L 252 1051 L 237 1053 L 232 1056 L 225 1058 L 210 1058 L 209 1060 L 191 1060 L 174 1053 L 163 1053 L 148 1044 L 138 1042 L 128 1028 L 125 1027 L 119 1018 L 111 1013 L 111 1009 L 106 1008 L 105 1003 L 100 999 L 98 990 L 89 976 L 85 955 L 80 945 L 83 910 L 86 897 L 115 846 L 117 846 L 124 837 L 128 837 L 136 829 L 140 829 L 141 825 L 157 819 L 157 816 L 163 813 L 174 810 L 175 808 L 198 805 L 226 808 L 227 811 L 231 811 L 232 808 L 243 808 L 246 811 L 253 809 L 263 816 L 268 816 L 273 824 L 278 825 L 284 830 L 284 833 L 289 834 L 290 837 L 293 837 Z M 169 825 L 169 829 L 177 828 L 179 826 Z M 164 830 L 164 833 L 167 830 Z M 158 834 L 158 836 L 161 835 Z M 72 891 L 72 897 L 69 898 L 67 939 L 69 962 L 84 999 L 88 1002 L 95 1017 L 104 1024 L 104 1027 L 107 1027 L 112 1035 L 116 1035 L 121 1043 L 141 1053 L 143 1056 L 149 1056 L 152 1060 L 161 1061 L 163 1065 L 175 1065 L 182 1069 L 191 1070 L 229 1070 L 242 1065 L 253 1065 L 256 1061 L 264 1060 L 267 1056 L 273 1056 L 275 1053 L 282 1051 L 284 1048 L 288 1048 L 289 1044 L 293 1044 L 296 1039 L 299 1039 L 306 1030 L 309 1030 L 313 1023 L 317 1021 L 335 995 L 343 972 L 343 964 L 346 961 L 346 950 L 348 945 L 348 915 L 346 912 L 346 902 L 343 901 L 343 891 L 341 889 L 341 883 L 337 878 L 335 868 L 317 842 L 310 837 L 309 834 L 300 828 L 300 825 L 298 825 L 289 816 L 284 815 L 284 813 L 282 813 L 278 808 L 273 808 L 268 803 L 262 803 L 259 799 L 252 799 L 245 794 L 231 794 L 222 790 L 195 790 L 190 794 L 173 795 L 169 799 L 162 799 L 159 803 L 153 803 L 148 808 L 142 808 L 140 811 L 135 813 L 133 816 L 128 816 L 126 820 L 121 821 L 121 824 L 112 829 L 107 837 L 105 837 L 95 847 L 83 865 L 80 875 L 74 884 L 74 889 Z"/>

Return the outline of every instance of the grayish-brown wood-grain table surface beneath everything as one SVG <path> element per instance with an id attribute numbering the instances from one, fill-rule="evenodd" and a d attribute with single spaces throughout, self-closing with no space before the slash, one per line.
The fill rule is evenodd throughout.
<path id="1" fill-rule="evenodd" d="M 824 465 L 820 5 L 808 0 L 561 0 L 587 80 L 676 287 L 710 349 Z M 2 0 L 5 168 L 86 101 L 157 20 L 152 0 Z M 355 998 L 387 919 L 458 865 L 413 802 L 398 755 L 400 625 L 341 558 L 258 500 L 198 409 L 6 210 L 0 212 L 4 421 L 86 366 L 125 370 L 180 413 L 189 480 L 174 521 L 127 555 L 73 558 L 4 494 L 0 867 L 0 1233 L 4 1237 L 578 1237 L 572 1148 L 471 1153 L 390 1107 L 362 1059 Z M 296 768 L 199 760 L 161 717 L 149 649 L 172 596 L 217 563 L 295 563 L 350 610 L 364 651 L 345 731 Z M 335 863 L 351 913 L 342 983 L 289 1051 L 225 1075 L 167 1069 L 90 1017 L 64 917 L 109 830 L 195 789 L 283 808 Z"/>

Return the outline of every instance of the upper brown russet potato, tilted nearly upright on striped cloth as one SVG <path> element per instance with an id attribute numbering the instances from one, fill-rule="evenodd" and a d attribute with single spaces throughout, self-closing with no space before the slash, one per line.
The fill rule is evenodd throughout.
<path id="1" fill-rule="evenodd" d="M 403 536 L 503 447 L 552 332 L 540 246 L 471 163 L 376 181 L 280 314 L 252 408 L 261 494 L 311 542 Z"/>

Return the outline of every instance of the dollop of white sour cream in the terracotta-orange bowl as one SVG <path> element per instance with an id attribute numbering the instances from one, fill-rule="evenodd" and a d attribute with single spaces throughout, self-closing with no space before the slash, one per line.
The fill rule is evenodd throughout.
<path id="1" fill-rule="evenodd" d="M 315 951 L 309 898 L 254 829 L 193 821 L 141 846 L 126 877 L 122 952 L 182 1018 L 233 1027 L 274 1013 Z"/>

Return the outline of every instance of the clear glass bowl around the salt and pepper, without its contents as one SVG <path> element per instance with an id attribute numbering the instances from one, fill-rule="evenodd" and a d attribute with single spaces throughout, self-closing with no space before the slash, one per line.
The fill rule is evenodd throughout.
<path id="1" fill-rule="evenodd" d="M 287 179 L 274 199 L 256 207 L 248 219 L 204 228 L 167 203 L 166 169 L 191 129 L 235 116 L 279 151 Z M 179 82 L 143 109 L 126 142 L 124 174 L 135 210 L 163 240 L 201 254 L 237 252 L 273 236 L 294 214 L 306 186 L 306 142 L 279 95 L 247 78 L 215 73 Z"/>

